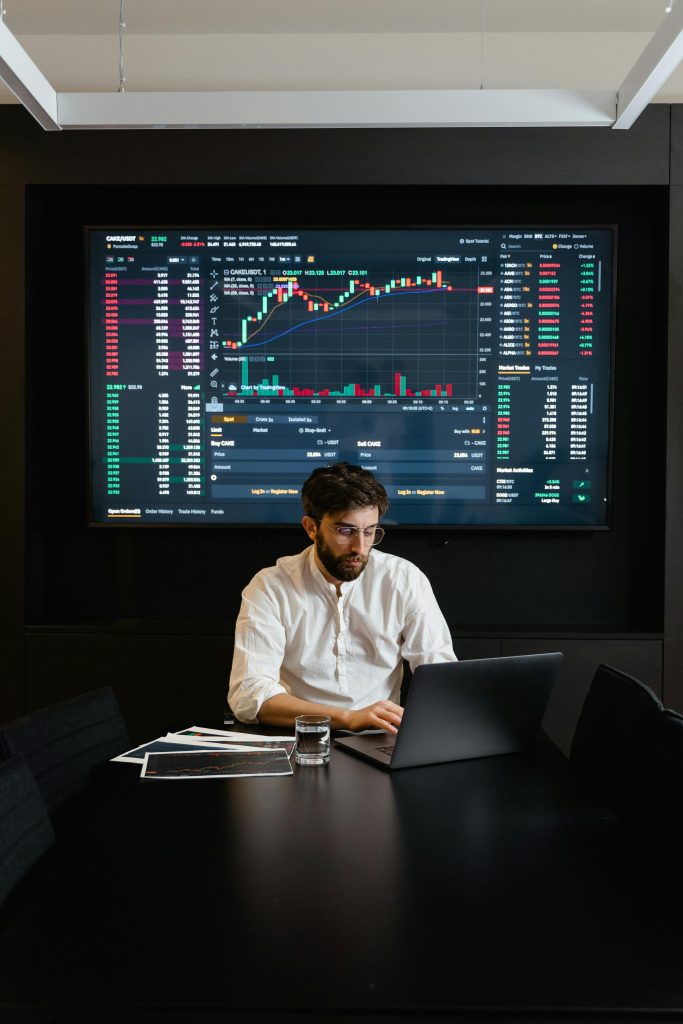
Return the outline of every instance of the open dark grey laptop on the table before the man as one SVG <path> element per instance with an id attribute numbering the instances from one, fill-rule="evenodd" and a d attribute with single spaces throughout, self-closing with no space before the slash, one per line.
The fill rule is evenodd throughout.
<path id="1" fill-rule="evenodd" d="M 525 751 L 561 662 L 552 653 L 421 665 L 396 735 L 365 732 L 335 745 L 392 771 Z"/>

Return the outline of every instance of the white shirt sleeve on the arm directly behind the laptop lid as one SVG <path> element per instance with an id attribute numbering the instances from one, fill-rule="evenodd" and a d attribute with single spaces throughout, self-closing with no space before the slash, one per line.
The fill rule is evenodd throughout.
<path id="1" fill-rule="evenodd" d="M 427 577 L 414 566 L 405 594 L 401 654 L 415 672 L 419 665 L 457 662 L 453 638 Z"/>

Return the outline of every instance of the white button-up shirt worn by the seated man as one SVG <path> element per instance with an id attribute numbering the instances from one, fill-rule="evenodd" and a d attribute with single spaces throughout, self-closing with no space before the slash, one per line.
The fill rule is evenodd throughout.
<path id="1" fill-rule="evenodd" d="M 373 549 L 337 596 L 311 545 L 262 569 L 242 594 L 229 705 L 257 721 L 264 700 L 290 693 L 352 711 L 398 702 L 402 658 L 411 669 L 457 660 L 449 627 L 424 572 Z"/>

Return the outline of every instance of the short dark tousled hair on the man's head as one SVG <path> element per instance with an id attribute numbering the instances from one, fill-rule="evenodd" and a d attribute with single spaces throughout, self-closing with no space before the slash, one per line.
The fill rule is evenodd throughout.
<path id="1" fill-rule="evenodd" d="M 331 512 L 377 507 L 380 518 L 389 507 L 386 490 L 361 466 L 336 462 L 313 470 L 301 488 L 303 510 L 315 522 Z"/>

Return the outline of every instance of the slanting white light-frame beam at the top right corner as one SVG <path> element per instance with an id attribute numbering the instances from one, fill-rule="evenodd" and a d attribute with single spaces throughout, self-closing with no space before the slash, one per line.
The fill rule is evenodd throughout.
<path id="1" fill-rule="evenodd" d="M 674 4 L 617 92 L 614 128 L 630 128 L 683 58 L 683 0 Z"/>

